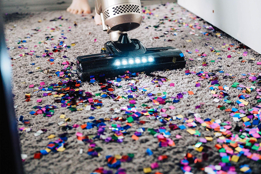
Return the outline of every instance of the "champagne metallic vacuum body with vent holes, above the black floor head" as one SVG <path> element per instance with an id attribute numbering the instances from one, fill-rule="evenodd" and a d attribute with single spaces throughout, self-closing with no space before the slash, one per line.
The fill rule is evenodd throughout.
<path id="1" fill-rule="evenodd" d="M 96 0 L 95 8 L 101 15 L 103 30 L 109 34 L 134 30 L 143 19 L 140 0 Z"/>

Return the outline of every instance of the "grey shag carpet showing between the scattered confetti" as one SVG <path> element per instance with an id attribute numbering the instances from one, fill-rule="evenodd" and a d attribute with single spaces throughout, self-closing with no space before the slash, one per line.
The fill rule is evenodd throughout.
<path id="1" fill-rule="evenodd" d="M 143 8 L 144 9 L 144 8 Z M 114 88 L 114 94 L 116 96 L 123 95 L 133 95 L 136 103 L 138 105 L 147 104 L 151 108 L 162 108 L 166 109 L 166 114 L 170 116 L 183 115 L 185 118 L 194 119 L 192 113 L 199 113 L 202 119 L 220 119 L 222 122 L 231 122 L 232 128 L 230 129 L 232 133 L 238 133 L 233 131 L 234 127 L 238 124 L 242 126 L 243 122 L 235 122 L 229 115 L 229 112 L 220 110 L 217 108 L 219 105 L 225 106 L 226 108 L 240 108 L 247 111 L 247 109 L 257 106 L 257 99 L 255 97 L 258 95 L 255 90 L 253 90 L 249 95 L 250 97 L 245 99 L 249 104 L 244 107 L 238 106 L 236 101 L 239 99 L 238 95 L 242 93 L 242 90 L 236 88 L 231 88 L 234 82 L 239 81 L 240 84 L 245 86 L 255 86 L 256 89 L 260 86 L 252 84 L 249 79 L 243 79 L 242 74 L 248 73 L 260 73 L 260 65 L 257 62 L 260 61 L 260 55 L 249 48 L 243 47 L 241 43 L 226 33 L 215 30 L 208 29 L 210 24 L 206 21 L 196 17 L 187 10 L 181 8 L 175 3 L 167 3 L 164 5 L 157 4 L 146 6 L 146 9 L 151 10 L 153 14 L 144 14 L 144 20 L 139 28 L 129 32 L 131 38 L 137 38 L 147 47 L 164 47 L 164 46 L 174 46 L 182 50 L 186 57 L 186 68 L 180 70 L 169 70 L 169 71 L 159 71 L 154 72 L 155 75 L 160 75 L 167 77 L 170 81 L 163 82 L 163 85 L 157 86 L 151 81 L 153 77 L 147 76 L 145 74 L 140 74 L 134 79 L 136 81 L 135 86 L 138 88 L 147 87 L 150 88 L 148 91 L 143 92 L 141 90 L 134 93 L 127 93 L 129 90 L 128 84 L 133 81 L 122 79 L 120 82 L 122 88 Z M 6 16 L 6 42 L 9 48 L 10 57 L 12 60 L 12 82 L 13 82 L 13 93 L 14 93 L 14 105 L 17 114 L 17 119 L 22 115 L 24 120 L 29 120 L 30 124 L 24 124 L 18 121 L 18 128 L 26 127 L 31 128 L 30 132 L 19 131 L 21 150 L 22 154 L 28 155 L 28 157 L 23 162 L 24 170 L 26 173 L 92 173 L 97 167 L 104 167 L 106 170 L 110 168 L 107 166 L 106 156 L 107 155 L 126 155 L 128 153 L 133 153 L 134 158 L 130 162 L 122 162 L 121 168 L 125 168 L 127 173 L 143 173 L 143 168 L 149 167 L 151 163 L 158 162 L 159 168 L 153 169 L 152 173 L 159 171 L 161 173 L 184 173 L 178 163 L 184 158 L 186 153 L 191 153 L 197 158 L 202 158 L 202 152 L 193 150 L 197 142 L 199 142 L 200 137 L 211 136 L 214 137 L 213 141 L 207 142 L 204 146 L 204 152 L 209 154 L 209 159 L 202 162 L 202 166 L 208 166 L 210 164 L 218 165 L 221 161 L 221 157 L 214 147 L 217 144 L 217 137 L 214 136 L 215 131 L 206 131 L 203 126 L 197 122 L 197 126 L 194 128 L 199 130 L 201 133 L 200 137 L 190 135 L 185 130 L 189 127 L 184 123 L 184 119 L 172 120 L 167 122 L 166 125 L 162 124 L 160 120 L 149 119 L 146 116 L 142 116 L 139 120 L 146 121 L 145 124 L 138 124 L 137 121 L 132 122 L 132 127 L 127 130 L 122 143 L 117 142 L 104 142 L 101 139 L 94 139 L 96 147 L 101 147 L 103 150 L 99 157 L 92 157 L 87 154 L 89 144 L 80 144 L 77 142 L 76 133 L 81 132 L 84 136 L 86 135 L 97 135 L 97 128 L 92 129 L 81 129 L 72 128 L 68 131 L 64 128 L 58 126 L 58 122 L 64 121 L 64 119 L 59 118 L 61 114 L 65 114 L 66 118 L 70 118 L 71 121 L 67 122 L 69 126 L 74 124 L 82 125 L 86 122 L 91 122 L 88 119 L 90 116 L 95 117 L 95 119 L 111 117 L 123 117 L 127 118 L 125 110 L 120 112 L 115 112 L 113 108 L 118 108 L 128 106 L 129 100 L 121 99 L 120 101 L 115 101 L 109 97 L 103 98 L 101 96 L 95 96 L 95 93 L 101 93 L 100 86 L 98 82 L 94 84 L 88 82 L 82 82 L 79 89 L 85 92 L 91 92 L 93 94 L 93 99 L 102 100 L 102 107 L 95 110 L 85 110 L 84 106 L 79 105 L 76 108 L 84 108 L 80 111 L 71 111 L 67 108 L 62 108 L 60 103 L 55 103 L 55 99 L 60 97 L 53 96 L 42 96 L 43 91 L 34 92 L 35 87 L 40 87 L 40 82 L 44 81 L 47 87 L 50 84 L 57 84 L 60 80 L 55 71 L 62 70 L 64 65 L 62 62 L 68 61 L 73 62 L 72 70 L 76 69 L 76 57 L 80 55 L 88 55 L 100 52 L 103 44 L 108 41 L 109 37 L 106 32 L 102 32 L 101 26 L 96 26 L 94 20 L 92 19 L 93 14 L 89 15 L 73 15 L 67 13 L 66 11 L 52 11 L 52 12 L 35 12 L 33 14 L 10 14 Z M 233 14 L 230 14 L 233 15 Z M 61 17 L 62 16 L 62 17 Z M 61 17 L 59 19 L 59 17 Z M 52 20 L 54 19 L 54 20 Z M 63 20 L 62 20 L 63 19 Z M 195 26 L 201 27 L 196 28 Z M 208 34 L 202 34 L 206 32 Z M 216 35 L 220 33 L 220 35 Z M 26 42 L 23 42 L 26 40 Z M 54 46 L 57 46 L 61 41 L 71 48 L 62 48 L 61 52 L 53 52 Z M 188 42 L 189 41 L 189 42 Z M 72 44 L 75 43 L 75 46 Z M 62 44 L 62 45 L 63 45 Z M 224 44 L 235 44 L 233 47 L 226 46 L 222 48 Z M 20 47 L 20 48 L 19 48 Z M 220 52 L 211 52 L 211 48 L 219 50 Z M 231 48 L 228 50 L 227 48 Z M 237 48 L 239 47 L 239 48 Z M 236 49 L 237 48 L 237 49 Z M 195 50 L 199 52 L 195 52 Z M 45 50 L 49 50 L 53 54 L 54 64 L 48 61 L 50 57 L 42 57 Z M 191 51 L 189 54 L 186 50 Z M 233 52 L 235 50 L 235 52 Z M 34 51 L 34 52 L 31 52 Z M 240 52 L 240 53 L 238 53 Z M 247 52 L 247 56 L 242 56 L 243 52 Z M 22 54 L 32 53 L 33 55 Z M 48 53 L 48 52 L 47 52 Z M 198 54 L 206 54 L 205 57 L 198 56 Z M 216 55 L 215 53 L 220 53 Z M 231 58 L 227 56 L 231 55 Z M 40 56 L 40 57 L 37 57 Z M 222 59 L 219 59 L 221 57 Z M 239 57 L 243 57 L 242 60 Z M 254 60 L 251 60 L 254 58 Z M 189 60 L 189 59 L 194 59 Z M 215 62 L 211 62 L 214 60 Z M 202 63 L 206 62 L 206 66 L 202 66 Z M 37 67 L 40 67 L 37 69 Z M 229 100 L 231 104 L 224 102 L 224 99 L 220 99 L 220 102 L 216 103 L 213 101 L 214 97 L 211 94 L 209 87 L 209 80 L 199 81 L 199 77 L 195 74 L 185 75 L 185 70 L 200 72 L 214 72 L 219 77 L 218 81 L 221 86 L 229 86 L 227 93 L 229 94 Z M 48 71 L 47 71 L 48 70 Z M 72 71 L 70 70 L 70 71 Z M 224 71 L 224 73 L 219 73 L 218 71 Z M 74 71 L 72 71 L 74 72 Z M 223 78 L 225 74 L 234 75 L 236 78 Z M 49 76 L 52 76 L 50 78 Z M 256 75 L 257 76 L 257 75 Z M 249 76 L 247 76 L 249 77 Z M 73 77 L 73 79 L 77 79 Z M 195 87 L 195 82 L 200 82 L 200 87 Z M 170 83 L 174 83 L 175 86 L 170 86 Z M 29 85 L 34 84 L 33 88 L 29 88 Z M 166 92 L 166 99 L 173 100 L 171 97 L 175 97 L 178 93 L 193 91 L 194 95 L 189 95 L 187 98 L 180 99 L 178 103 L 167 103 L 165 105 L 155 105 L 147 96 L 148 93 Z M 216 93 L 220 93 L 220 90 L 215 90 Z M 25 94 L 30 93 L 31 98 L 29 102 L 25 100 Z M 55 94 L 55 92 L 52 92 Z M 42 99 L 41 103 L 37 103 L 37 99 Z M 200 108 L 195 108 L 199 106 Z M 43 114 L 31 115 L 29 112 L 35 111 L 34 106 L 45 106 L 45 105 L 55 105 L 58 108 L 54 109 L 54 114 L 52 117 L 44 117 Z M 138 106 L 137 105 L 137 106 Z M 175 109 L 169 109 L 169 106 L 175 106 Z M 141 112 L 145 108 L 139 106 L 136 108 L 137 111 Z M 162 115 L 164 113 L 160 112 L 158 109 L 158 114 Z M 177 125 L 185 125 L 186 129 L 177 129 L 171 131 L 168 127 L 169 123 Z M 112 136 L 113 132 L 109 130 L 111 124 L 125 125 L 124 122 L 120 121 L 105 121 L 106 128 L 105 134 Z M 148 128 L 158 129 L 164 126 L 167 131 L 170 131 L 170 138 L 174 140 L 175 146 L 159 147 L 158 139 L 150 135 L 147 131 Z M 137 141 L 133 140 L 131 136 L 135 133 L 137 128 L 144 127 L 146 131 L 142 134 Z M 46 129 L 47 131 L 39 136 L 35 137 L 35 133 L 38 130 Z M 66 149 L 63 152 L 50 152 L 47 155 L 41 157 L 41 159 L 34 159 L 34 154 L 46 148 L 47 144 L 59 137 L 60 134 L 67 132 L 66 135 L 68 140 L 66 141 Z M 48 139 L 48 136 L 54 134 L 56 137 L 54 139 Z M 176 135 L 181 135 L 182 138 L 176 138 Z M 260 143 L 260 139 L 258 139 Z M 83 153 L 80 154 L 80 149 L 83 149 Z M 149 156 L 146 153 L 146 149 L 150 148 L 153 151 L 153 155 Z M 255 151 L 252 151 L 255 153 Z M 256 152 L 259 153 L 259 152 Z M 260 153 L 259 153 L 260 154 Z M 159 161 L 157 158 L 159 155 L 168 155 L 168 159 L 165 161 Z M 241 173 L 239 166 L 242 164 L 249 164 L 252 169 L 252 173 L 259 173 L 261 170 L 260 164 L 248 159 L 242 155 L 238 162 L 231 162 L 233 166 L 236 167 L 236 171 Z M 195 164 L 192 166 L 192 173 L 205 173 L 196 168 Z M 110 169 L 116 172 L 116 169 Z"/>

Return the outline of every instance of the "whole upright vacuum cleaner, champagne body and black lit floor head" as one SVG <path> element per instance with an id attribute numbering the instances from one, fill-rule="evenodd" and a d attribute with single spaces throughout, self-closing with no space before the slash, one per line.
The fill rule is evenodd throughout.
<path id="1" fill-rule="evenodd" d="M 77 57 L 77 74 L 82 81 L 95 76 L 115 77 L 127 70 L 150 73 L 185 67 L 179 49 L 146 48 L 138 39 L 128 37 L 127 32 L 139 27 L 143 19 L 140 0 L 95 0 L 95 10 L 110 41 L 101 53 Z"/>

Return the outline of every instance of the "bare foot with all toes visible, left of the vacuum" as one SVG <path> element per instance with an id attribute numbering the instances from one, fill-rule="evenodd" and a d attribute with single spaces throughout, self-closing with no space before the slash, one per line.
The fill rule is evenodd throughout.
<path id="1" fill-rule="evenodd" d="M 68 7 L 66 11 L 73 14 L 91 13 L 87 0 L 73 0 L 70 7 Z"/>

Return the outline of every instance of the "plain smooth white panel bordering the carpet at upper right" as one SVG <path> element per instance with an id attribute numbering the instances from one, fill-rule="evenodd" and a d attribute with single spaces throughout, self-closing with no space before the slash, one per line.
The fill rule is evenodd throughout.
<path id="1" fill-rule="evenodd" d="M 178 0 L 177 2 L 261 54 L 261 0 Z"/>

